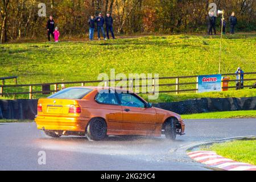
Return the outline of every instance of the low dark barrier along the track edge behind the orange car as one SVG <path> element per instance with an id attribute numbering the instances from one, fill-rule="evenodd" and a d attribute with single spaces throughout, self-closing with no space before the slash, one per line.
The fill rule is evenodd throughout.
<path id="1" fill-rule="evenodd" d="M 0 100 L 0 119 L 34 119 L 38 100 Z M 256 97 L 199 98 L 180 102 L 153 104 L 178 114 L 213 111 L 256 110 Z"/>

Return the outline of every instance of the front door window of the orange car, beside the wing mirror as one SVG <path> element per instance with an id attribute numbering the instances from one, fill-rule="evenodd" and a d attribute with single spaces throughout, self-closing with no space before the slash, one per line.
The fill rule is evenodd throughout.
<path id="1" fill-rule="evenodd" d="M 128 107 L 141 107 L 144 108 L 145 104 L 138 97 L 129 93 L 118 94 L 119 100 L 121 101 L 121 106 Z"/>

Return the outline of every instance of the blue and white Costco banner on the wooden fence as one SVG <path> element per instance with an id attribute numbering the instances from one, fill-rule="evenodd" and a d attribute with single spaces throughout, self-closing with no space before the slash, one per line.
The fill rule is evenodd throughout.
<path id="1" fill-rule="evenodd" d="M 198 76 L 198 93 L 221 91 L 221 75 Z"/>

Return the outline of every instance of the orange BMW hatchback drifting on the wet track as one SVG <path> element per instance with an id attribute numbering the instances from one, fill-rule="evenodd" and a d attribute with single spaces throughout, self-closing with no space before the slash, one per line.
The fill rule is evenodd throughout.
<path id="1" fill-rule="evenodd" d="M 152 107 L 127 90 L 71 87 L 38 101 L 36 125 L 50 137 L 86 136 L 102 140 L 106 135 L 146 135 L 174 140 L 185 125 L 179 114 Z"/>

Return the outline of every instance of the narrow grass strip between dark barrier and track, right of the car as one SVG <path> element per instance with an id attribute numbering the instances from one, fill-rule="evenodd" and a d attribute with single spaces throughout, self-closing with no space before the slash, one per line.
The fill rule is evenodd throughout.
<path id="1" fill-rule="evenodd" d="M 224 118 L 256 118 L 256 110 L 222 111 L 199 114 L 184 114 L 183 119 L 224 119 Z"/>

